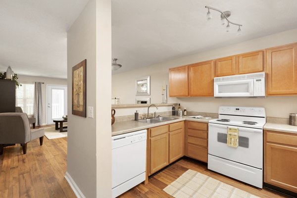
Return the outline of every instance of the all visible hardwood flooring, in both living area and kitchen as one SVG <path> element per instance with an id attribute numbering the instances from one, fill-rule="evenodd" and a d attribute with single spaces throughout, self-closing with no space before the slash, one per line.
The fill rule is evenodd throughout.
<path id="1" fill-rule="evenodd" d="M 28 143 L 27 154 L 19 145 L 4 148 L 0 155 L 0 198 L 76 198 L 64 179 L 67 168 L 67 138 L 39 139 Z M 267 189 L 257 189 L 207 170 L 205 164 L 182 159 L 120 198 L 172 198 L 164 191 L 188 169 L 196 170 L 260 198 L 286 198 Z"/>

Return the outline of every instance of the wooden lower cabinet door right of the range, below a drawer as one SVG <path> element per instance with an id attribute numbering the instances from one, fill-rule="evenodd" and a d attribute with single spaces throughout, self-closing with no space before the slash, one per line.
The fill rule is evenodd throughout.
<path id="1" fill-rule="evenodd" d="M 264 182 L 297 193 L 297 148 L 266 144 Z"/>

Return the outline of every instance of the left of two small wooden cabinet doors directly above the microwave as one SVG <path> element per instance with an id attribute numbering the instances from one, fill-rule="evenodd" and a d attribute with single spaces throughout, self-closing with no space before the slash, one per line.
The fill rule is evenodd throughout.
<path id="1" fill-rule="evenodd" d="M 236 57 L 228 56 L 215 60 L 215 77 L 236 74 Z"/>

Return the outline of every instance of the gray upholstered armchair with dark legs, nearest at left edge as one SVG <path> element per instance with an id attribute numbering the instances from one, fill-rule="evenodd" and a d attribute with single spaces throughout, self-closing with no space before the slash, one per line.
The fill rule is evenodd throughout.
<path id="1" fill-rule="evenodd" d="M 0 113 L 0 154 L 5 144 L 21 144 L 23 153 L 27 152 L 27 143 L 39 138 L 43 144 L 45 129 L 30 129 L 26 113 Z"/>

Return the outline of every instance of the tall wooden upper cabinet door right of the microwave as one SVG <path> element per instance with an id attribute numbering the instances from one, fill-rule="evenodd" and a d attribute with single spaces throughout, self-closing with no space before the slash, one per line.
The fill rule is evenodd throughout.
<path id="1" fill-rule="evenodd" d="M 297 44 L 266 49 L 268 95 L 297 94 Z"/>

